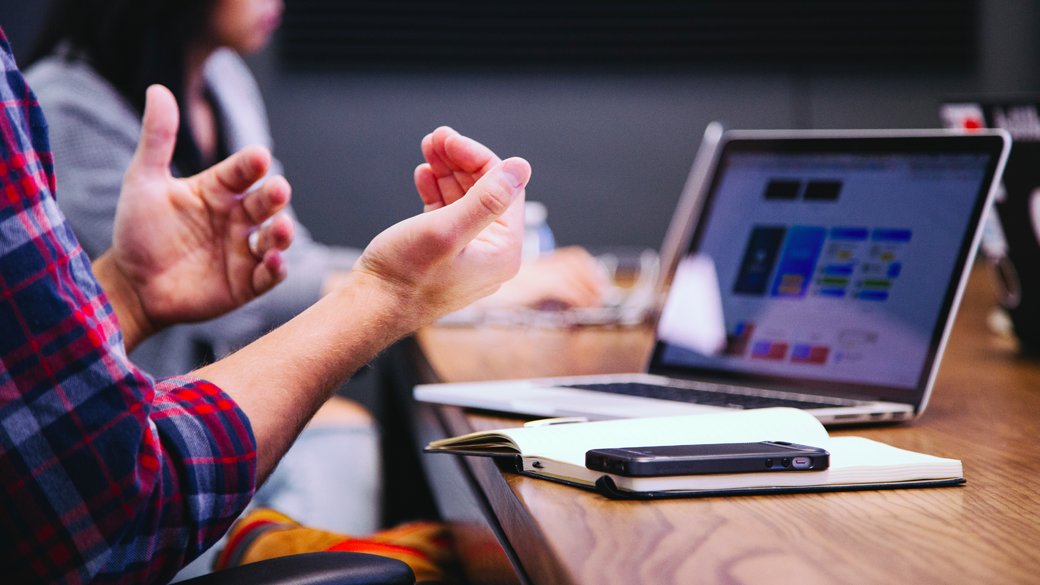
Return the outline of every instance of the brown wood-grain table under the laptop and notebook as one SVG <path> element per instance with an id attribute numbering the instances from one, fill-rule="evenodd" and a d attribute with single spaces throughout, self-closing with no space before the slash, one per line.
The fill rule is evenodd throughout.
<path id="1" fill-rule="evenodd" d="M 1040 583 L 1040 362 L 989 332 L 989 275 L 972 274 L 918 421 L 835 430 L 961 459 L 938 489 L 616 502 L 424 455 L 441 513 L 476 583 Z M 430 328 L 422 380 L 632 372 L 647 330 Z M 517 418 L 414 405 L 418 443 Z"/>

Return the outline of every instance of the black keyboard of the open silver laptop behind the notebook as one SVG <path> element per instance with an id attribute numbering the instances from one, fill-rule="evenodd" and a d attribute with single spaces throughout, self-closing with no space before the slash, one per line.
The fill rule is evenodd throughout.
<path id="1" fill-rule="evenodd" d="M 724 406 L 727 408 L 740 408 L 745 410 L 753 408 L 772 408 L 777 406 L 788 406 L 805 410 L 812 408 L 834 408 L 836 406 L 855 406 L 857 404 L 862 404 L 857 401 L 837 401 L 833 399 L 821 399 L 818 401 L 812 400 L 811 398 L 807 400 L 792 400 L 777 397 L 699 390 L 696 388 L 660 386 L 657 384 L 642 384 L 639 382 L 568 384 L 562 387 L 596 390 L 598 392 L 609 392 L 630 397 L 688 402 L 707 406 Z"/>

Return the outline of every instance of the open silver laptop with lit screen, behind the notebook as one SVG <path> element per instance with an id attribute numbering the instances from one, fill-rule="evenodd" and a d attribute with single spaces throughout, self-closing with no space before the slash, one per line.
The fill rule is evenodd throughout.
<path id="1" fill-rule="evenodd" d="M 589 419 L 775 406 L 829 425 L 914 418 L 1010 144 L 1003 130 L 725 132 L 687 181 L 646 373 L 427 384 L 415 399 Z"/>

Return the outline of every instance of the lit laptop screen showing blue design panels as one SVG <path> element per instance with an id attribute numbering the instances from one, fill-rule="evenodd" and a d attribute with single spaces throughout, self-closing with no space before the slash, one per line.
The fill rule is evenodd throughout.
<path id="1" fill-rule="evenodd" d="M 974 138 L 726 143 L 683 260 L 713 263 L 726 341 L 661 339 L 651 372 L 918 400 L 999 158 Z"/>

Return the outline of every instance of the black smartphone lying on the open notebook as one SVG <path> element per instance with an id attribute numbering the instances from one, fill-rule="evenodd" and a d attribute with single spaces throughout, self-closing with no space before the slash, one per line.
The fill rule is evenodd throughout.
<path id="1" fill-rule="evenodd" d="M 829 465 L 827 451 L 779 440 L 593 449 L 586 453 L 586 467 L 632 478 L 818 472 Z"/>

